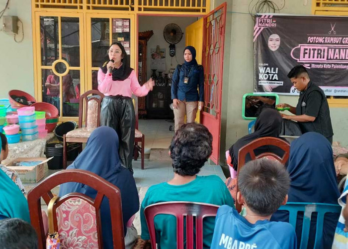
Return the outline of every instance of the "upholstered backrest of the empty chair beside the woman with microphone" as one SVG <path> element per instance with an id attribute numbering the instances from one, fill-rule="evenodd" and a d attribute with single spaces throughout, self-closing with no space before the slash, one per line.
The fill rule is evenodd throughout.
<path id="1" fill-rule="evenodd" d="M 92 95 L 92 97 L 88 97 Z M 93 97 L 99 96 L 99 98 Z M 79 128 L 83 125 L 83 114 L 85 104 L 85 125 L 88 128 L 96 128 L 100 125 L 100 106 L 104 95 L 97 90 L 90 90 L 80 96 L 79 106 Z"/>

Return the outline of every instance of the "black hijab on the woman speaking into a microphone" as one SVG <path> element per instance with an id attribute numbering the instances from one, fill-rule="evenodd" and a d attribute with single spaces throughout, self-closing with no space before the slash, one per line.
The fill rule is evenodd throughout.
<path id="1" fill-rule="evenodd" d="M 121 67 L 119 67 L 119 68 L 114 68 L 114 69 L 112 70 L 112 80 L 113 80 L 113 81 L 116 81 L 116 80 L 122 81 L 122 80 L 125 80 L 125 79 L 127 79 L 127 78 L 129 77 L 129 75 L 130 75 L 131 72 L 133 71 L 133 68 L 131 68 L 131 67 L 128 66 L 126 50 L 124 50 L 124 47 L 122 46 L 121 43 L 119 43 L 119 42 L 114 42 L 114 43 L 112 43 L 112 44 L 110 45 L 110 47 L 111 47 L 112 45 L 115 45 L 115 44 L 116 44 L 117 46 L 120 47 L 120 49 L 121 49 L 121 51 L 122 51 L 123 59 L 122 59 L 122 65 L 121 65 Z M 109 49 L 110 49 L 110 47 L 109 47 Z M 108 51 L 109 51 L 109 50 L 108 50 Z M 104 74 L 107 73 L 107 67 L 106 67 L 106 65 L 107 65 L 107 63 L 109 63 L 109 61 L 110 61 L 109 55 L 108 55 L 108 54 L 105 56 L 105 59 L 106 59 L 107 61 L 103 64 L 102 67 L 100 67 Z"/>

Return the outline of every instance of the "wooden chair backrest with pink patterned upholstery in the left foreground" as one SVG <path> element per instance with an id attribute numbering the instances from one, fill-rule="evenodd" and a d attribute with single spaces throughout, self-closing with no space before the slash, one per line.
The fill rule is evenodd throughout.
<path id="1" fill-rule="evenodd" d="M 112 237 L 113 237 L 113 247 L 116 249 L 124 249 L 124 234 L 123 234 L 123 220 L 122 220 L 122 206 L 121 206 L 121 194 L 119 189 L 113 184 L 109 183 L 100 176 L 81 169 L 69 169 L 57 172 L 42 182 L 37 186 L 32 188 L 28 193 L 28 206 L 30 213 L 31 225 L 34 227 L 39 242 L 39 249 L 46 248 L 46 234 L 43 227 L 43 219 L 41 216 L 41 198 L 48 205 L 50 200 L 53 198 L 51 190 L 66 182 L 77 182 L 85 184 L 97 191 L 95 199 L 91 199 L 88 196 L 80 193 L 70 193 L 59 198 L 53 206 L 53 222 L 54 230 L 60 231 L 62 233 L 62 245 L 63 240 L 68 237 L 76 237 L 84 233 L 90 233 L 95 235 L 97 238 L 97 244 L 100 249 L 102 246 L 102 235 L 101 235 L 101 219 L 100 219 L 100 204 L 105 196 L 109 200 L 110 215 L 111 215 L 111 226 L 112 226 Z M 69 207 L 71 210 L 66 210 Z M 75 211 L 73 209 L 76 209 Z M 82 211 L 82 208 L 85 208 Z M 89 212 L 88 212 L 89 211 Z M 90 230 L 70 226 L 71 229 L 67 229 L 66 224 L 71 225 L 71 217 L 65 217 L 64 215 L 73 214 L 76 212 L 84 212 L 84 214 L 89 215 L 91 218 L 90 224 L 88 226 L 96 228 Z M 68 221 L 68 223 L 67 223 Z M 60 227 L 60 226 L 63 226 Z"/>

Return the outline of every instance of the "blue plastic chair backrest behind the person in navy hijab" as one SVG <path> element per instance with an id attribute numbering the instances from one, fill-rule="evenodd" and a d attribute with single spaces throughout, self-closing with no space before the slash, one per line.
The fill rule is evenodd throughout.
<path id="1" fill-rule="evenodd" d="M 280 206 L 279 210 L 289 211 L 289 223 L 296 229 L 298 212 L 303 212 L 302 235 L 299 249 L 306 249 L 309 238 L 312 213 L 317 213 L 316 234 L 313 249 L 319 249 L 323 237 L 324 216 L 326 213 L 341 213 L 341 206 L 326 203 L 297 203 L 288 202 Z"/>

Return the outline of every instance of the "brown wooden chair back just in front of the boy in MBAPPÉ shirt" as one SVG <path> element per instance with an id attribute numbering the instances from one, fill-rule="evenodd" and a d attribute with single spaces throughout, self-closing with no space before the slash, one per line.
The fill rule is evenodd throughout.
<path id="1" fill-rule="evenodd" d="M 271 145 L 275 147 L 279 147 L 284 151 L 284 154 L 282 157 L 278 156 L 275 153 L 272 152 L 264 152 L 260 155 L 255 155 L 255 150 L 259 147 L 265 146 L 265 145 Z M 289 159 L 289 153 L 290 153 L 290 145 L 285 142 L 284 140 L 276 137 L 266 136 L 261 137 L 258 139 L 255 139 L 254 141 L 244 145 L 242 148 L 239 149 L 238 152 L 238 170 L 237 170 L 237 193 L 238 193 L 238 174 L 239 171 L 243 168 L 246 161 L 246 156 L 249 154 L 251 157 L 251 160 L 260 159 L 262 157 L 267 157 L 268 159 L 274 159 L 279 161 L 282 164 L 285 164 L 287 160 Z M 242 207 L 241 205 L 236 201 L 236 209 L 238 212 L 241 212 Z"/>

